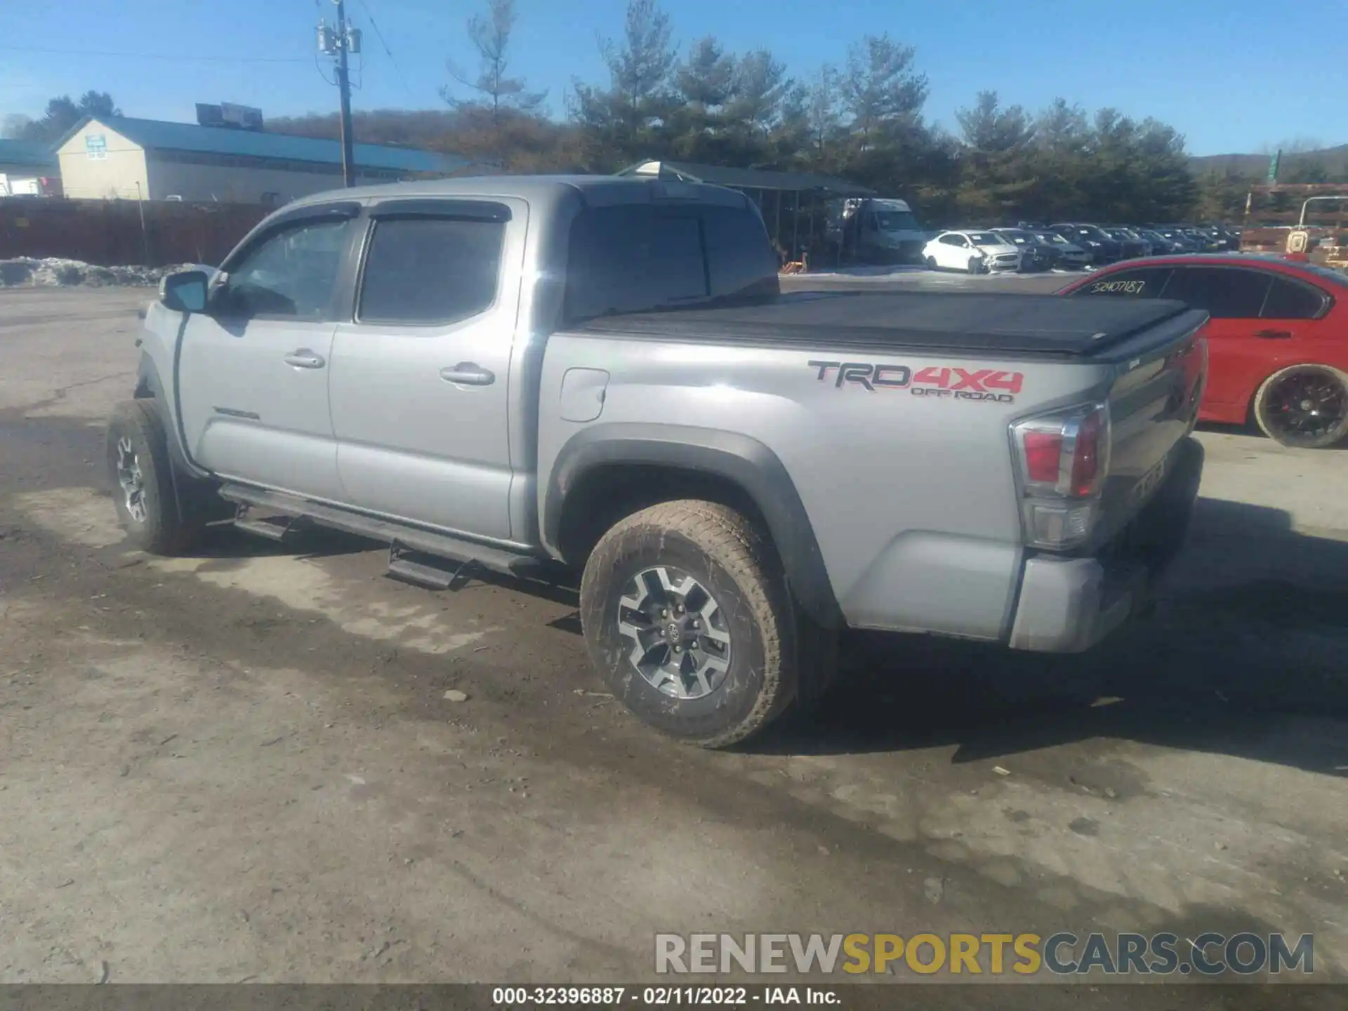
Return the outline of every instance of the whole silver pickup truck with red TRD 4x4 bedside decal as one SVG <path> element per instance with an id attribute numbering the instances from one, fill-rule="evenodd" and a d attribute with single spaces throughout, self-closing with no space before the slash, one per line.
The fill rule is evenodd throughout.
<path id="1" fill-rule="evenodd" d="M 613 693 L 720 747 L 817 698 L 845 628 L 1062 652 L 1140 609 L 1197 495 L 1205 319 L 783 295 L 709 186 L 352 189 L 164 279 L 108 462 L 147 551 L 321 524 L 431 586 L 578 573 Z"/>

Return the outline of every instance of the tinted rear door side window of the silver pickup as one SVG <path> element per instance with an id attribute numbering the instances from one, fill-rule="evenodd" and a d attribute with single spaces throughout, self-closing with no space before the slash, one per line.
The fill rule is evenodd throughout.
<path id="1" fill-rule="evenodd" d="M 506 221 L 485 216 L 375 221 L 356 318 L 363 324 L 453 324 L 496 301 Z"/>

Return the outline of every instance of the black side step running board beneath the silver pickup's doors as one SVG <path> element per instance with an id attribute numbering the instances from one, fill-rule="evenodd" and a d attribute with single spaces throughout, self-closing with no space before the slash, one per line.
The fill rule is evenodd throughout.
<path id="1" fill-rule="evenodd" d="M 252 512 L 280 515 L 283 519 L 279 522 L 274 519 L 248 519 L 243 524 L 239 524 L 236 520 L 236 526 L 260 532 L 272 539 L 279 539 L 272 531 L 284 531 L 293 526 L 294 518 L 302 516 L 319 526 L 342 530 L 357 537 L 368 537 L 372 541 L 383 541 L 392 546 L 388 553 L 390 574 L 421 585 L 449 586 L 465 563 L 480 565 L 483 569 L 519 578 L 542 578 L 550 568 L 545 559 L 534 555 L 516 554 L 503 547 L 480 545 L 474 541 L 465 541 L 449 534 L 438 534 L 404 523 L 367 516 L 337 506 L 325 506 L 283 492 L 271 492 L 243 484 L 226 484 L 220 489 L 220 497 L 239 506 L 249 507 Z M 268 530 L 259 530 L 257 527 L 260 526 L 267 526 Z M 415 553 L 417 557 L 407 557 L 408 551 Z M 450 561 L 446 566 L 441 568 L 438 565 L 441 559 Z"/>

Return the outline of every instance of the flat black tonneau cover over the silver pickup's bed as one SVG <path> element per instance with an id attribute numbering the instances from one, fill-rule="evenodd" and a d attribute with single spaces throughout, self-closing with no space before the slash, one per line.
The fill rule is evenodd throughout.
<path id="1" fill-rule="evenodd" d="M 941 291 L 798 291 L 754 303 L 589 319 L 572 332 L 1078 357 L 1190 311 L 1184 302 Z M 1204 315 L 1193 313 L 1193 326 Z"/>

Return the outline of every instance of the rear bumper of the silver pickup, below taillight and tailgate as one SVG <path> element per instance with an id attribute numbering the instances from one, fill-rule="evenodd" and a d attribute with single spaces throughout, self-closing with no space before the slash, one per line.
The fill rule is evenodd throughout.
<path id="1" fill-rule="evenodd" d="M 1148 604 L 1184 546 L 1202 477 L 1202 446 L 1186 438 L 1170 476 L 1138 516 L 1089 558 L 1035 555 L 1024 563 L 1010 647 L 1091 648 Z"/>

